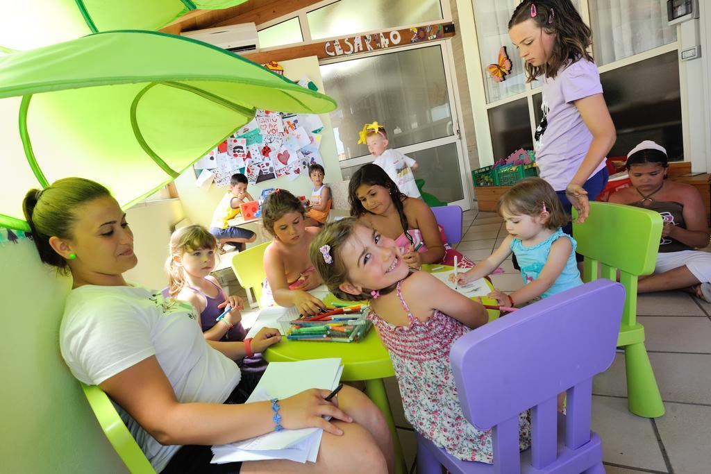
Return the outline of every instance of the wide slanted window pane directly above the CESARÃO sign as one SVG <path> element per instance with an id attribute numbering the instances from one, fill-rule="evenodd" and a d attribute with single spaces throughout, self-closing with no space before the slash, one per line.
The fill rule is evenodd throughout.
<path id="1" fill-rule="evenodd" d="M 439 0 L 339 0 L 309 11 L 306 18 L 311 38 L 319 40 L 427 23 L 442 20 L 443 16 Z"/>

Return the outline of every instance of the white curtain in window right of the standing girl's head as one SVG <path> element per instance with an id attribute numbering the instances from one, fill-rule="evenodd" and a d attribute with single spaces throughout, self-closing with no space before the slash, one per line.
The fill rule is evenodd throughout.
<path id="1" fill-rule="evenodd" d="M 589 7 L 597 65 L 676 41 L 665 0 L 589 0 Z"/>

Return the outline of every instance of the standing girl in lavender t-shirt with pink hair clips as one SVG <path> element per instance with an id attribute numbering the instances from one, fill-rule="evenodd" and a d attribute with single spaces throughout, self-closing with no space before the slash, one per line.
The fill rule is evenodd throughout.
<path id="1" fill-rule="evenodd" d="M 592 31 L 570 0 L 524 0 L 508 22 L 508 36 L 525 61 L 526 80 L 542 76 L 543 117 L 535 132 L 540 177 L 583 222 L 589 200 L 607 183 L 605 156 L 616 138 L 587 52 Z"/>

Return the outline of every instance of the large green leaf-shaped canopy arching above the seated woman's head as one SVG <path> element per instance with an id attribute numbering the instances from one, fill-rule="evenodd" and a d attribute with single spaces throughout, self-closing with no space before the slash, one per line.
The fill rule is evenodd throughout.
<path id="1" fill-rule="evenodd" d="M 67 176 L 107 185 L 126 208 L 255 108 L 319 114 L 336 102 L 228 51 L 151 31 L 0 55 L 0 225 L 27 228 L 26 191 Z"/>

